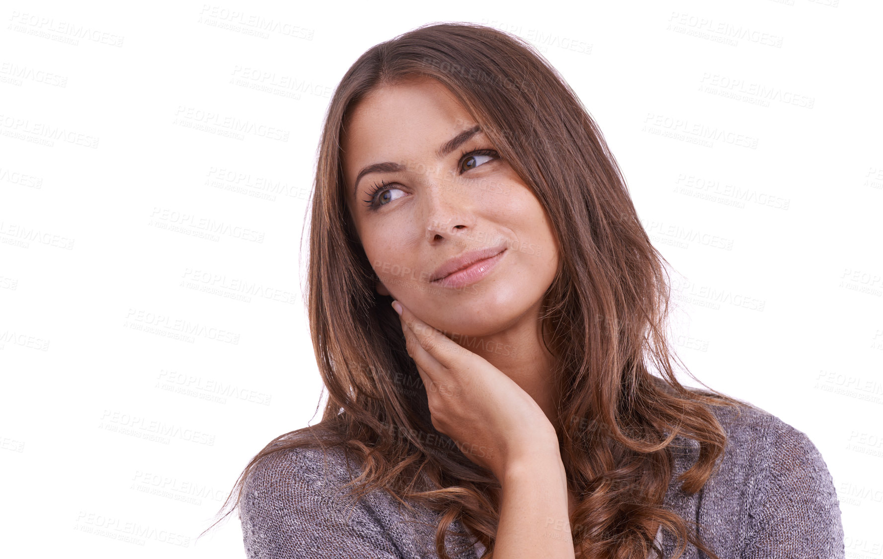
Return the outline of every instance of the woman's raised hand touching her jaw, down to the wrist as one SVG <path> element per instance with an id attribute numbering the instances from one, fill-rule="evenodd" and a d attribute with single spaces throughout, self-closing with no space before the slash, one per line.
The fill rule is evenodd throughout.
<path id="1" fill-rule="evenodd" d="M 515 381 L 400 306 L 408 355 L 426 386 L 432 424 L 502 480 L 513 466 L 558 450 L 555 427 Z"/>

